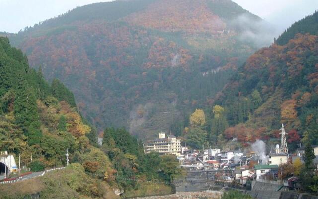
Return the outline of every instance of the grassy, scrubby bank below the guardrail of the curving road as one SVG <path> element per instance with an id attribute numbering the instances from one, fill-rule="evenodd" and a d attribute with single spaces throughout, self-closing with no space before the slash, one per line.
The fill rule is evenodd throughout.
<path id="1" fill-rule="evenodd" d="M 0 185 L 0 199 L 119 199 L 105 181 L 85 174 L 79 164 L 31 180 Z"/>

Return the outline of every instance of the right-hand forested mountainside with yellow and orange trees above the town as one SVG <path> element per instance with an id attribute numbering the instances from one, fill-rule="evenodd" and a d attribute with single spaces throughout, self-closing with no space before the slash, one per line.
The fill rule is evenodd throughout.
<path id="1" fill-rule="evenodd" d="M 251 55 L 212 106 L 191 114 L 183 134 L 189 145 L 249 146 L 279 138 L 282 123 L 290 152 L 301 141 L 318 144 L 318 36 L 307 33 L 317 26 L 316 16 L 295 24 L 306 27 L 299 30 L 305 34 Z M 293 34 L 293 27 L 284 34 Z"/>

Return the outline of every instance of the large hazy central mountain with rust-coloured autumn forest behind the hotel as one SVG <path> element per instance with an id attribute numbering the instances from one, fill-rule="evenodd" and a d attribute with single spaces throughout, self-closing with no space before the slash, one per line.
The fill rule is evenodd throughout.
<path id="1" fill-rule="evenodd" d="M 261 24 L 231 0 L 131 0 L 78 7 L 7 36 L 73 91 L 100 130 L 125 126 L 145 139 L 180 134 L 193 109 L 211 105 L 271 42 Z"/>

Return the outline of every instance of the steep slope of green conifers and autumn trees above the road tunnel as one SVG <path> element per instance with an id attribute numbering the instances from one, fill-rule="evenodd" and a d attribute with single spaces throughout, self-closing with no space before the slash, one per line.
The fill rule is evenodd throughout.
<path id="1" fill-rule="evenodd" d="M 76 111 L 73 94 L 57 79 L 50 85 L 41 69 L 0 37 L 0 148 L 21 154 L 22 164 L 42 158 L 47 166 L 64 164 L 67 145 L 93 132 Z M 95 132 L 93 132 L 95 134 Z M 94 140 L 95 138 L 95 140 Z M 96 142 L 96 136 L 92 136 Z M 36 147 L 35 147 L 36 146 Z"/>

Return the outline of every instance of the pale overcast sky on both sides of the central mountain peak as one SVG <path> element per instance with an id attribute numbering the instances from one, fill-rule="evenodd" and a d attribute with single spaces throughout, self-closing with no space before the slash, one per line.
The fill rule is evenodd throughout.
<path id="1" fill-rule="evenodd" d="M 26 26 L 65 13 L 76 6 L 112 0 L 0 0 L 0 31 L 18 32 Z M 318 9 L 318 0 L 233 0 L 284 30 Z"/>

